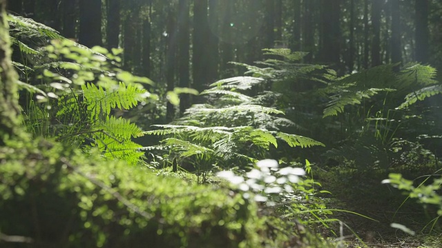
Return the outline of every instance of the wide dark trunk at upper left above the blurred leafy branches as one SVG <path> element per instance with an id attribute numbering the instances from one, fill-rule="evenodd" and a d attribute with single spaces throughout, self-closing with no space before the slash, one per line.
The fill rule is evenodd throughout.
<path id="1" fill-rule="evenodd" d="M 102 45 L 102 1 L 79 0 L 79 43 L 92 48 Z"/>

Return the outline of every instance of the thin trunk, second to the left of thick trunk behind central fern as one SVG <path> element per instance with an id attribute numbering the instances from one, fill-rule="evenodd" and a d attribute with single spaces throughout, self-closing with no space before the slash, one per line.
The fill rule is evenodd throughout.
<path id="1" fill-rule="evenodd" d="M 176 24 L 173 6 L 169 5 L 167 14 L 167 52 L 166 52 L 166 83 L 167 90 L 173 91 L 175 87 L 175 59 L 176 59 Z M 166 120 L 171 122 L 175 116 L 175 107 L 168 101 L 166 107 Z"/>

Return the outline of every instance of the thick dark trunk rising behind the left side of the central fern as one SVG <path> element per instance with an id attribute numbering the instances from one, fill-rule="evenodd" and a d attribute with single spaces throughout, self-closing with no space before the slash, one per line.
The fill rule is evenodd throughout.
<path id="1" fill-rule="evenodd" d="M 207 0 L 195 0 L 193 3 L 193 87 L 198 92 L 202 92 L 208 83 L 209 51 L 207 50 L 207 41 L 209 40 Z"/>

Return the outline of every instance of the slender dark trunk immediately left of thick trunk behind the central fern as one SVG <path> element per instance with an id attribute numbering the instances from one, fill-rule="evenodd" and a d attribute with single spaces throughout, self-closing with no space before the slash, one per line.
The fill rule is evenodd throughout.
<path id="1" fill-rule="evenodd" d="M 178 45 L 179 45 L 179 82 L 180 87 L 190 87 L 189 75 L 189 56 L 190 56 L 190 7 L 189 0 L 180 0 L 179 3 L 180 16 L 178 19 Z M 190 107 L 189 94 L 180 94 L 180 113 Z"/>

